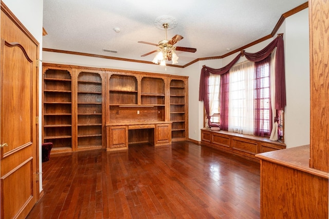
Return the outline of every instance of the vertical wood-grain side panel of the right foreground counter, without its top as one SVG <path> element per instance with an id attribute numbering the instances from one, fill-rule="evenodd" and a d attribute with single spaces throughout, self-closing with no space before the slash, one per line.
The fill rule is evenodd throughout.
<path id="1" fill-rule="evenodd" d="M 261 160 L 262 218 L 327 218 L 328 179 Z"/>

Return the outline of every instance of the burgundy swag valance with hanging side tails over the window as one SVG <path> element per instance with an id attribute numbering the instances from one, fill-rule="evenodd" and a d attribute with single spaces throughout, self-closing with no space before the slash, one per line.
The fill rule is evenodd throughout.
<path id="1" fill-rule="evenodd" d="M 264 49 L 249 53 L 244 52 L 244 56 L 247 60 L 252 62 L 259 62 L 270 56 L 273 49 L 277 47 L 276 52 L 276 65 L 275 65 L 275 76 L 276 76 L 276 95 L 275 95 L 275 108 L 283 110 L 286 105 L 286 88 L 285 88 L 285 68 L 284 68 L 284 47 L 283 47 L 283 34 L 278 34 L 277 38 L 268 44 Z M 199 101 L 204 101 L 205 109 L 209 114 L 209 99 L 208 99 L 208 78 L 209 74 L 223 75 L 227 74 L 230 68 L 240 59 L 242 56 L 239 53 L 228 65 L 220 69 L 214 69 L 207 66 L 203 66 L 200 75 L 199 85 Z"/>

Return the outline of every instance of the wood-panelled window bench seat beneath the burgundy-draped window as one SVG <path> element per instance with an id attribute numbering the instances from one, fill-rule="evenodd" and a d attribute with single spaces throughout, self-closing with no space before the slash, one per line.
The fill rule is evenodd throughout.
<path id="1" fill-rule="evenodd" d="M 201 129 L 201 143 L 256 161 L 259 161 L 259 158 L 255 157 L 255 154 L 286 148 L 284 143 L 266 137 L 210 129 Z"/>

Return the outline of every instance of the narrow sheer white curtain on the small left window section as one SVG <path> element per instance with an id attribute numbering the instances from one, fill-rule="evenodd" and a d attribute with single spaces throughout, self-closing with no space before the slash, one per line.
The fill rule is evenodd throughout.
<path id="1" fill-rule="evenodd" d="M 220 94 L 221 77 L 210 74 L 209 76 L 209 114 L 212 116 L 218 112 L 218 95 Z"/>

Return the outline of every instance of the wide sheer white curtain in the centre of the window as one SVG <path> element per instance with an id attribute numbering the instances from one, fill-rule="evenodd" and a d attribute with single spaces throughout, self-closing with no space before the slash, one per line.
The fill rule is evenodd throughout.
<path id="1" fill-rule="evenodd" d="M 236 64 L 229 74 L 228 131 L 252 135 L 254 62 Z"/>

